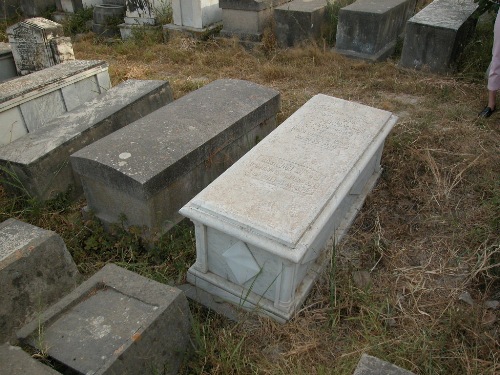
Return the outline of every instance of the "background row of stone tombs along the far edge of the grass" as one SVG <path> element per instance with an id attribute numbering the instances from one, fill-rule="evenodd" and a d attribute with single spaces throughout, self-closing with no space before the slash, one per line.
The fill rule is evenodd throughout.
<path id="1" fill-rule="evenodd" d="M 133 28 L 160 27 L 157 18 L 167 3 L 151 0 L 137 7 L 131 0 L 104 0 L 96 7 L 123 8 L 120 31 L 126 39 Z M 437 73 L 453 70 L 474 31 L 477 4 L 473 0 L 435 0 L 414 15 L 415 4 L 416 0 L 357 0 L 340 9 L 335 50 L 353 58 L 381 61 L 392 55 L 399 39 L 404 39 L 401 66 Z M 220 30 L 223 37 L 236 36 L 252 45 L 261 42 L 264 30 L 273 24 L 278 44 L 288 47 L 319 40 L 331 22 L 326 0 L 172 0 L 171 6 L 173 22 L 163 26 L 166 38 L 177 31 L 207 35 Z M 121 10 L 118 12 L 119 17 Z"/>

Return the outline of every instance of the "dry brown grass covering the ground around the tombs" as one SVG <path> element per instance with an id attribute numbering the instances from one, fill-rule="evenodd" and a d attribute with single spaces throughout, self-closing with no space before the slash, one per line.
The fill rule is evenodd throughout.
<path id="1" fill-rule="evenodd" d="M 352 374 L 364 352 L 416 374 L 500 373 L 500 314 L 483 304 L 500 299 L 500 114 L 477 119 L 484 82 L 402 69 L 397 58 L 349 60 L 313 45 L 248 51 L 234 40 L 105 45 L 87 37 L 74 48 L 79 59 L 108 61 L 115 85 L 168 80 L 176 98 L 218 78 L 273 87 L 282 95 L 280 122 L 317 93 L 400 116 L 378 185 L 303 309 L 285 325 L 234 324 L 193 305 L 196 353 L 184 373 Z M 73 225 L 62 217 L 66 224 L 48 226 Z M 64 236 L 75 249 L 77 235 Z M 99 246 L 109 246 L 103 254 L 121 249 Z M 108 261 L 103 254 L 79 254 L 80 268 L 93 272 L 98 259 Z M 148 261 L 151 269 L 178 258 Z M 354 271 L 367 271 L 370 284 L 356 285 Z M 459 299 L 466 291 L 473 306 Z"/>

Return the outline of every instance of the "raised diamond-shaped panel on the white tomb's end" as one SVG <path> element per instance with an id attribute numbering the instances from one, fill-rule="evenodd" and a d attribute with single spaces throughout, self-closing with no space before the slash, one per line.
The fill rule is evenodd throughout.
<path id="1" fill-rule="evenodd" d="M 248 246 L 242 241 L 236 242 L 222 256 L 226 259 L 227 265 L 240 285 L 243 285 L 260 272 L 258 263 Z"/>

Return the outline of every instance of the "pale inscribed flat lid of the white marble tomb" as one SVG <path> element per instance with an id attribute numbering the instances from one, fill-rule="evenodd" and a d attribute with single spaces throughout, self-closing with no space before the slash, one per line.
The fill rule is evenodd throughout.
<path id="1" fill-rule="evenodd" d="M 396 120 L 387 111 L 316 95 L 181 213 L 296 248 Z"/>

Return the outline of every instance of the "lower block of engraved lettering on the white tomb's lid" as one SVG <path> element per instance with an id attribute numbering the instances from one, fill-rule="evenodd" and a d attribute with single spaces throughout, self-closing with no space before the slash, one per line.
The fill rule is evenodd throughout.
<path id="1" fill-rule="evenodd" d="M 249 169 L 250 177 L 301 195 L 317 192 L 325 178 L 314 169 L 266 155 L 252 161 Z"/>

